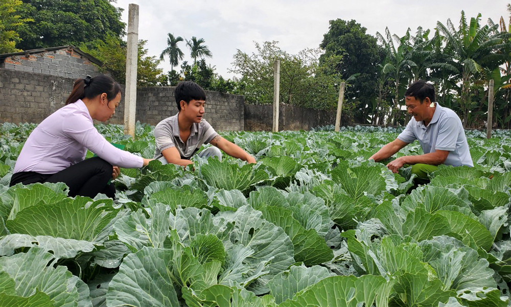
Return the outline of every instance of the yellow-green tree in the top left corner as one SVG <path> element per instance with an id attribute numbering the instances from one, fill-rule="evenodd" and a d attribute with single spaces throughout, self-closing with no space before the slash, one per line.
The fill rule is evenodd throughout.
<path id="1" fill-rule="evenodd" d="M 16 13 L 22 5 L 21 0 L 2 0 L 0 3 L 0 53 L 20 51 L 16 48 L 21 38 L 17 30 L 29 21 L 30 18 L 21 18 Z"/>

